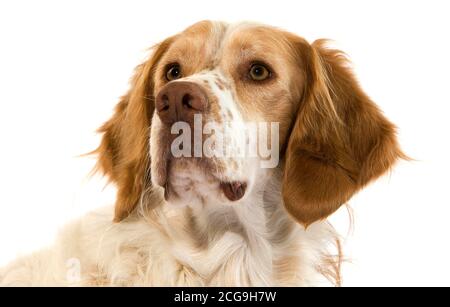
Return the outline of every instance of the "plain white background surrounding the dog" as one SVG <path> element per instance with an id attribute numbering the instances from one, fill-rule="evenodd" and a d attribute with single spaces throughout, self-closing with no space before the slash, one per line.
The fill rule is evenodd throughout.
<path id="1" fill-rule="evenodd" d="M 345 209 L 344 285 L 450 285 L 448 1 L 2 1 L 0 265 L 114 201 L 88 173 L 95 129 L 146 49 L 202 19 L 253 20 L 332 38 L 416 161 Z"/>

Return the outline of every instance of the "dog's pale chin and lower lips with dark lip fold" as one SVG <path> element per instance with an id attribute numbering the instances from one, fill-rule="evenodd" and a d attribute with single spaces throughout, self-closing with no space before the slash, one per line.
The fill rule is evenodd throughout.
<path id="1" fill-rule="evenodd" d="M 157 182 L 164 189 L 164 199 L 175 206 L 235 204 L 247 194 L 247 182 L 223 178 L 208 161 L 171 159 L 166 164 L 164 181 Z M 161 166 L 161 164 L 159 164 Z M 161 170 L 162 171 L 162 170 Z"/>

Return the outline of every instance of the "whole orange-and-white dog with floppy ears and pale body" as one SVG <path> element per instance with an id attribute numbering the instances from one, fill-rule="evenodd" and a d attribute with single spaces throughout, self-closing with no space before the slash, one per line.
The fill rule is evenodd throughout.
<path id="1" fill-rule="evenodd" d="M 341 284 L 327 217 L 405 157 L 343 52 L 202 21 L 154 46 L 130 83 L 93 152 L 114 209 L 3 268 L 3 285 Z M 242 144 L 267 150 L 229 154 Z"/>

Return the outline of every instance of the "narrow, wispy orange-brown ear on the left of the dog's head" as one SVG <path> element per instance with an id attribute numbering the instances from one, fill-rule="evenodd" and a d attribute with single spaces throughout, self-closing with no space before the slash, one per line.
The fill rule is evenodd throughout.
<path id="1" fill-rule="evenodd" d="M 96 169 L 117 186 L 114 221 L 126 218 L 150 188 L 149 137 L 154 111 L 153 74 L 173 38 L 154 47 L 149 60 L 139 65 L 128 93 L 114 115 L 98 130 L 102 133 Z"/>

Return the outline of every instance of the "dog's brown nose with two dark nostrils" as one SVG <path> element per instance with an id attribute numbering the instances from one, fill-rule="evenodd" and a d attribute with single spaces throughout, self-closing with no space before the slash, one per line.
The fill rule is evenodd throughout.
<path id="1" fill-rule="evenodd" d="M 207 105 L 205 91 L 194 82 L 170 82 L 156 96 L 156 111 L 165 124 L 192 122 L 194 114 L 203 113 Z"/>

